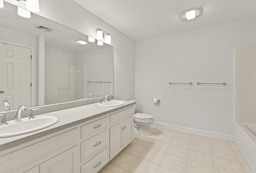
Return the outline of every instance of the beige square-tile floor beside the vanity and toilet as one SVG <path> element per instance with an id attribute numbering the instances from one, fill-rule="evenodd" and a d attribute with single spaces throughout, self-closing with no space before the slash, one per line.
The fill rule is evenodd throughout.
<path id="1" fill-rule="evenodd" d="M 234 142 L 152 127 L 99 173 L 252 173 Z"/>

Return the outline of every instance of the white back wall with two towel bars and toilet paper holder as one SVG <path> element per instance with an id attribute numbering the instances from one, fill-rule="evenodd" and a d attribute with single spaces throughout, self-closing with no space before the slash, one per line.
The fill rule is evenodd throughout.
<path id="1" fill-rule="evenodd" d="M 244 20 L 136 41 L 136 110 L 152 114 L 156 122 L 234 135 L 234 48 L 256 44 L 255 23 Z M 160 105 L 152 98 L 159 98 Z"/>

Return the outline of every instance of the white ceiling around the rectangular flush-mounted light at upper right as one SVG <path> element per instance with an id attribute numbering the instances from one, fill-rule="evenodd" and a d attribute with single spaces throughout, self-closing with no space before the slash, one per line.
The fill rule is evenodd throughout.
<path id="1" fill-rule="evenodd" d="M 74 0 L 134 40 L 256 18 L 256 0 Z M 184 10 L 202 16 L 181 21 Z"/>

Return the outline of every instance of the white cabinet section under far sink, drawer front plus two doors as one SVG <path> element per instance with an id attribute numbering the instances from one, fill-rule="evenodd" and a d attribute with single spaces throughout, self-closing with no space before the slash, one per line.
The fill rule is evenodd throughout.
<path id="1" fill-rule="evenodd" d="M 110 115 L 110 160 L 133 140 L 134 109 L 128 108 Z M 120 118 L 121 117 L 121 118 Z M 127 118 L 129 117 L 129 118 Z"/>

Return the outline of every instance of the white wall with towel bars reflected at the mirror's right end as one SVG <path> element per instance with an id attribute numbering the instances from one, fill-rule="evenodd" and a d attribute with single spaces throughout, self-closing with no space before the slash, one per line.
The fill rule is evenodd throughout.
<path id="1" fill-rule="evenodd" d="M 113 94 L 113 63 L 112 47 L 100 47 L 75 53 L 75 64 L 86 64 L 87 81 L 111 82 L 86 83 L 86 94 L 89 92 L 95 96 Z"/>

